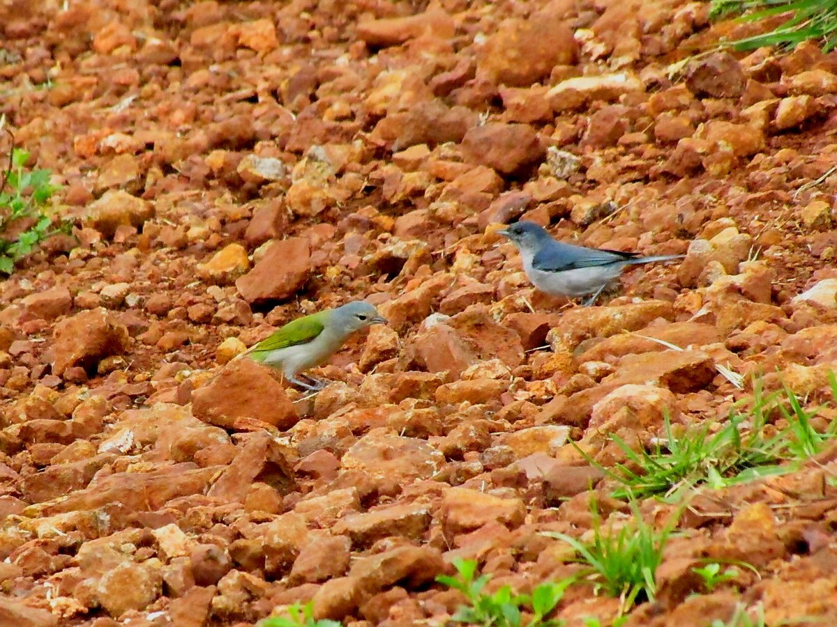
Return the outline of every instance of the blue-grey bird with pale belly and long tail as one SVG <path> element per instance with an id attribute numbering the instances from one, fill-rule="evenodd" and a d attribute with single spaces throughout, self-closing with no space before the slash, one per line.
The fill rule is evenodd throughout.
<path id="1" fill-rule="evenodd" d="M 515 222 L 498 231 L 508 237 L 521 252 L 523 270 L 531 283 L 551 296 L 571 298 L 593 293 L 584 303 L 589 307 L 624 268 L 640 263 L 670 261 L 686 255 L 639 257 L 636 252 L 605 248 L 587 248 L 557 242 L 535 222 Z"/>

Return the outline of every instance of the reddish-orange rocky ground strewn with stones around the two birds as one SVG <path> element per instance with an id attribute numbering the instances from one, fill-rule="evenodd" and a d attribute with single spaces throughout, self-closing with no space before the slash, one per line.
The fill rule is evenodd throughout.
<path id="1" fill-rule="evenodd" d="M 74 222 L 0 286 L 0 624 L 444 624 L 451 558 L 525 591 L 578 572 L 542 531 L 629 517 L 568 439 L 611 466 L 777 370 L 829 398 L 837 55 L 706 54 L 752 28 L 708 12 L 0 2 L 0 113 Z M 517 217 L 688 254 L 583 309 L 533 293 Z M 392 324 L 316 397 L 230 361 L 353 298 Z M 837 624 L 832 457 L 701 492 L 628 624 Z M 706 557 L 758 575 L 691 595 Z"/>

